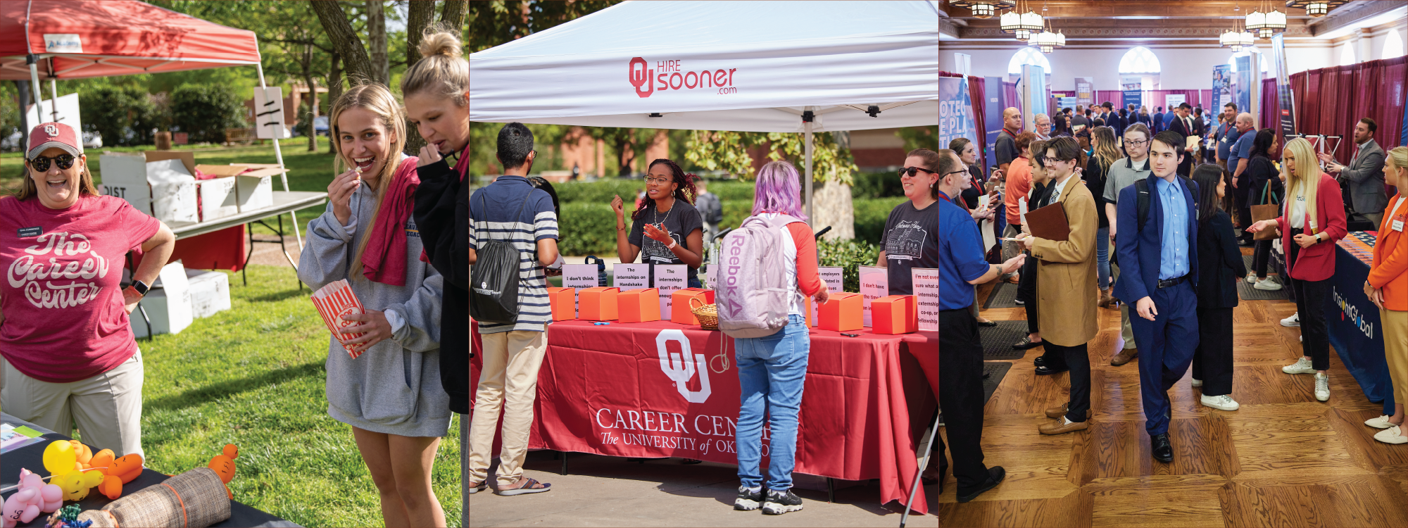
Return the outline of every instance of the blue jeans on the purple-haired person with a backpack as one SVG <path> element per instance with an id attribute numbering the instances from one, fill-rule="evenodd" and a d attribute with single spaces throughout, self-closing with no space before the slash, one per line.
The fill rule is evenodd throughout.
<path id="1" fill-rule="evenodd" d="M 738 480 L 746 487 L 763 484 L 763 413 L 769 415 L 767 489 L 791 489 L 797 455 L 797 411 L 801 410 L 803 382 L 811 335 L 801 315 L 788 315 L 787 327 L 766 338 L 734 339 L 738 382 L 742 389 L 738 410 Z"/>

